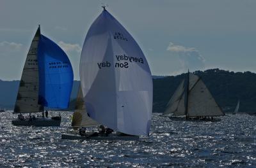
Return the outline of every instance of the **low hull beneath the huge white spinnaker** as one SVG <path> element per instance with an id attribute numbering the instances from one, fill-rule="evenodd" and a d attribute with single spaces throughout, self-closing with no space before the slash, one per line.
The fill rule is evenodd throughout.
<path id="1" fill-rule="evenodd" d="M 86 136 L 79 136 L 77 134 L 61 134 L 61 139 L 68 139 L 68 140 L 96 140 L 96 141 L 138 141 L 139 136 L 116 136 L 109 135 L 109 136 L 96 136 L 96 137 L 86 137 Z"/>

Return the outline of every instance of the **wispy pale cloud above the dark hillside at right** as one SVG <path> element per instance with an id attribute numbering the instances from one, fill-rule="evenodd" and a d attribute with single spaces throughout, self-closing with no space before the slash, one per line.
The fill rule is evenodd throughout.
<path id="1" fill-rule="evenodd" d="M 181 68 L 177 71 L 196 71 L 205 68 L 205 59 L 196 48 L 170 42 L 166 50 L 178 55 Z"/>

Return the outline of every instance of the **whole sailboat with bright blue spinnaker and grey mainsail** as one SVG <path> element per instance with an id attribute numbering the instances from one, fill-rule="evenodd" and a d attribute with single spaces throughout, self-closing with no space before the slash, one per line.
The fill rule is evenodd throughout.
<path id="1" fill-rule="evenodd" d="M 73 85 L 73 70 L 65 52 L 40 32 L 40 25 L 29 48 L 20 79 L 13 113 L 13 125 L 60 126 L 61 117 L 44 117 L 44 107 L 68 108 Z M 22 113 L 29 113 L 25 119 Z M 42 113 L 31 117 L 31 113 Z"/>

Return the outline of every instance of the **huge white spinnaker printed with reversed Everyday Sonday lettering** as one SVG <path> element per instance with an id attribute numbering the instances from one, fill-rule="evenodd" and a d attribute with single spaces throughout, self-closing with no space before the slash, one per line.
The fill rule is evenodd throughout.
<path id="1" fill-rule="evenodd" d="M 86 35 L 80 78 L 93 120 L 126 134 L 149 134 L 152 76 L 147 60 L 129 32 L 106 10 Z"/>

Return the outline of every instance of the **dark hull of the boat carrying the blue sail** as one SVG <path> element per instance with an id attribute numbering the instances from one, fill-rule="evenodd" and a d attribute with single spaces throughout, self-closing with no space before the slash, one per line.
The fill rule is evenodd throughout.
<path id="1" fill-rule="evenodd" d="M 52 120 L 51 118 L 36 118 L 36 120 L 12 120 L 16 126 L 36 126 L 36 127 L 59 127 L 61 120 Z"/>

